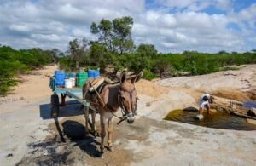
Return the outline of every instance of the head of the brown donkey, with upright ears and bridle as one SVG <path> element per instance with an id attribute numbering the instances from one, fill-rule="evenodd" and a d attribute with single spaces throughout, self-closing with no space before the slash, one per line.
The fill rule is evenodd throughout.
<path id="1" fill-rule="evenodd" d="M 119 102 L 122 109 L 125 111 L 128 123 L 134 122 L 134 116 L 137 114 L 137 92 L 135 83 L 143 76 L 143 72 L 136 72 L 130 77 L 123 71 L 120 75 Z"/>

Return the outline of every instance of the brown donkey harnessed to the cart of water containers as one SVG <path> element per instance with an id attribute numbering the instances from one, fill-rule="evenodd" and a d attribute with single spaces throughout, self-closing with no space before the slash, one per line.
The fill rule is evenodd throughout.
<path id="1" fill-rule="evenodd" d="M 95 117 L 96 112 L 100 114 L 101 121 L 101 152 L 104 151 L 104 139 L 106 136 L 106 129 L 108 130 L 108 150 L 113 152 L 112 132 L 113 132 L 113 116 L 115 112 L 118 112 L 119 108 L 123 111 L 123 117 L 119 117 L 121 120 L 127 120 L 128 123 L 133 123 L 135 115 L 137 114 L 137 92 L 135 89 L 135 83 L 143 76 L 143 72 L 137 72 L 130 77 L 126 75 L 126 72 L 121 72 L 119 83 L 107 83 L 96 89 L 94 97 L 88 92 L 88 82 L 86 81 L 83 86 L 83 96 L 85 100 L 90 102 L 90 108 L 92 108 L 92 131 L 96 133 Z M 85 117 L 85 129 L 88 132 L 89 122 L 89 110 L 84 110 Z"/>

